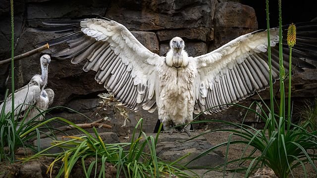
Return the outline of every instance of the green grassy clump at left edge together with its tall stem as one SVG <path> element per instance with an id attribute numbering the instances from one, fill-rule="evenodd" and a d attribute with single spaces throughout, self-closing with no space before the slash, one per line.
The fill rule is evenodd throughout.
<path id="1" fill-rule="evenodd" d="M 30 148 L 34 151 L 39 151 L 39 135 L 41 133 L 40 127 L 45 123 L 39 124 L 35 120 L 41 115 L 45 114 L 47 111 L 41 112 L 38 116 L 34 117 L 28 122 L 23 122 L 27 117 L 29 111 L 33 108 L 30 106 L 27 111 L 25 111 L 24 119 L 18 124 L 15 121 L 14 114 L 18 113 L 20 115 L 21 111 L 15 111 L 14 103 L 14 21 L 13 21 L 13 0 L 10 0 L 10 11 L 11 11 L 11 95 L 12 95 L 12 105 L 11 112 L 5 113 L 5 102 L 3 107 L 0 108 L 0 161 L 15 161 L 15 153 L 18 148 Z M 4 101 L 8 96 L 8 90 L 5 92 Z M 38 146 L 34 146 L 33 142 L 28 143 L 28 140 L 32 137 L 38 137 Z"/>

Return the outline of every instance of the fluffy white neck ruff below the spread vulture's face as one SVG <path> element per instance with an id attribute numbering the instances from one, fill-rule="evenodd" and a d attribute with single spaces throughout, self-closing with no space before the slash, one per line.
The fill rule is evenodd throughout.
<path id="1" fill-rule="evenodd" d="M 166 54 L 166 64 L 170 67 L 186 67 L 188 65 L 188 55 L 185 50 L 170 49 Z"/>

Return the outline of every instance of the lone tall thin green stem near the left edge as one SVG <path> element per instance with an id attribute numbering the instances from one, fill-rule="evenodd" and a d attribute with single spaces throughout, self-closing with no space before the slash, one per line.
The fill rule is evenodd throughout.
<path id="1" fill-rule="evenodd" d="M 11 88 L 12 88 L 12 112 L 11 119 L 14 121 L 14 23 L 13 23 L 13 0 L 10 0 L 11 8 Z"/>

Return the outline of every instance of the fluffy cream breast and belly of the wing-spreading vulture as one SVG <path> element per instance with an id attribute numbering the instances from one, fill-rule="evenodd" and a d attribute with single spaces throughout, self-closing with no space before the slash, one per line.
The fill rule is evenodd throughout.
<path id="1" fill-rule="evenodd" d="M 195 63 L 176 69 L 166 64 L 159 66 L 159 119 L 163 125 L 173 121 L 179 125 L 192 121 L 194 101 Z"/>

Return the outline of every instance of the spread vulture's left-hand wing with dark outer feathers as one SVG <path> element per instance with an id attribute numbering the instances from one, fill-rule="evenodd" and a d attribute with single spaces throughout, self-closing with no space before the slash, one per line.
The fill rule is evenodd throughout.
<path id="1" fill-rule="evenodd" d="M 68 21 L 69 24 L 74 24 Z M 76 22 L 76 21 L 75 21 Z M 51 23 L 52 24 L 52 23 Z M 114 98 L 132 110 L 154 112 L 156 105 L 156 65 L 163 59 L 144 47 L 123 25 L 108 19 L 85 19 L 81 31 L 49 42 L 67 42 L 68 48 L 53 56 L 72 58 L 72 63 L 88 59 L 84 71 L 97 72 L 95 80 Z M 73 25 L 70 25 L 73 29 Z M 55 30 L 67 30 L 67 26 Z M 60 32 L 60 31 L 59 31 Z"/>

